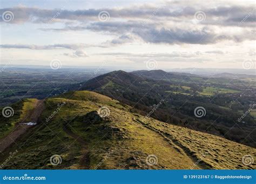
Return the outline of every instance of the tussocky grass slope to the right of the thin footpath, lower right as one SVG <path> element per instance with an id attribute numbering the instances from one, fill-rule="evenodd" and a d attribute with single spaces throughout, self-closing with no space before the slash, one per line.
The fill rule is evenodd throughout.
<path id="1" fill-rule="evenodd" d="M 184 148 L 185 151 L 197 158 L 201 158 L 201 160 L 214 169 L 256 168 L 255 163 L 251 166 L 245 166 L 241 162 L 242 156 L 244 155 L 250 154 L 255 158 L 255 148 L 241 145 L 215 135 L 164 124 L 163 122 L 144 117 L 138 118 L 137 121 L 142 122 L 144 126 L 152 130 L 161 132 L 164 137 L 172 139 L 175 144 Z"/>

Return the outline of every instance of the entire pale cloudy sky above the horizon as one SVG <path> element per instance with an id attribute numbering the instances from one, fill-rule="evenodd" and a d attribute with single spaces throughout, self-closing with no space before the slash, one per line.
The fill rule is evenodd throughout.
<path id="1" fill-rule="evenodd" d="M 1 64 L 255 69 L 254 1 L 1 1 Z"/>

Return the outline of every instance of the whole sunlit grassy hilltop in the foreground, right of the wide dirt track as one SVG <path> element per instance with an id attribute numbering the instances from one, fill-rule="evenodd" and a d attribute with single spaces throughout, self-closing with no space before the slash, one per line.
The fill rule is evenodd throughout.
<path id="1" fill-rule="evenodd" d="M 44 117 L 49 117 L 56 111 L 58 104 L 63 102 L 66 105 L 46 122 Z M 102 106 L 110 109 L 109 117 L 97 117 L 95 112 Z M 165 124 L 129 111 L 129 106 L 122 106 L 118 101 L 94 92 L 70 92 L 58 98 L 49 98 L 46 100 L 41 124 L 32 128 L 17 142 L 22 147 L 14 146 L 6 151 L 6 157 L 15 149 L 19 152 L 5 168 L 255 168 L 255 165 L 245 166 L 241 162 L 243 155 L 256 156 L 254 148 L 214 135 Z M 67 134 L 64 127 L 78 135 L 79 139 L 83 139 L 86 145 Z M 89 157 L 87 161 L 83 160 L 85 147 Z M 60 165 L 50 164 L 49 159 L 53 154 L 62 156 Z M 157 165 L 146 164 L 146 157 L 150 154 L 157 156 Z M 0 163 L 4 159 L 0 159 Z M 194 165 L 198 159 L 202 161 Z"/>

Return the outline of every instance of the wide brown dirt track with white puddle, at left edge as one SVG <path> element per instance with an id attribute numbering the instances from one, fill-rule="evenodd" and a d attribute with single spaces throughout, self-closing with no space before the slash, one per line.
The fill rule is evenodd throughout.
<path id="1" fill-rule="evenodd" d="M 29 114 L 30 120 L 32 122 L 37 122 L 38 118 L 40 117 L 41 113 L 44 110 L 44 100 L 37 100 L 35 103 L 35 108 L 33 111 Z M 21 123 L 24 123 L 25 121 L 22 120 L 19 122 L 14 131 L 12 131 L 10 134 L 8 134 L 5 138 L 0 140 L 0 152 L 3 152 L 6 148 L 11 146 L 12 144 L 15 144 L 15 141 L 23 135 L 26 131 L 29 130 L 32 126 L 24 125 Z"/>

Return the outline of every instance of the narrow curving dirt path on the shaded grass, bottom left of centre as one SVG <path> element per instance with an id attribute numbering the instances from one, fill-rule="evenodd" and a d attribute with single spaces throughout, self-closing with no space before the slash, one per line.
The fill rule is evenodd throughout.
<path id="1" fill-rule="evenodd" d="M 80 138 L 79 135 L 73 133 L 67 126 L 64 126 L 63 130 L 82 146 L 83 156 L 79 163 L 79 169 L 90 169 L 90 156 L 88 148 L 86 146 L 86 142 L 82 138 Z"/>

